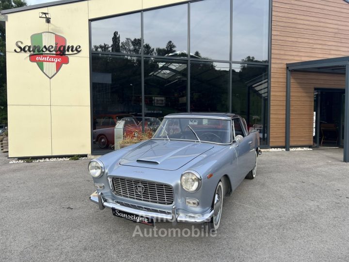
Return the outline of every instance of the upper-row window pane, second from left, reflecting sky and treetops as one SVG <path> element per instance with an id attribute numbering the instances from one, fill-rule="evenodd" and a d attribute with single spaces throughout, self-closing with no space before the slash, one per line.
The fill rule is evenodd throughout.
<path id="1" fill-rule="evenodd" d="M 144 54 L 187 56 L 188 4 L 146 11 L 143 19 Z"/>

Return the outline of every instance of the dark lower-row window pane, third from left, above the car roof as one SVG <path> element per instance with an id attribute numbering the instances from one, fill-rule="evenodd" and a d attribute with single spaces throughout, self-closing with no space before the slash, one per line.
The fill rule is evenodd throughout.
<path id="1" fill-rule="evenodd" d="M 190 111 L 228 112 L 229 64 L 190 63 Z"/>

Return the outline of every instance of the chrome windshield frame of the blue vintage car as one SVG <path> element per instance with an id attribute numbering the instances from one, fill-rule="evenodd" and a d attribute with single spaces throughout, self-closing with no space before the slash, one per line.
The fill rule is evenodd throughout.
<path id="1" fill-rule="evenodd" d="M 170 138 L 170 140 L 168 140 L 167 138 L 154 138 L 155 134 L 157 133 L 157 131 L 161 128 L 166 128 L 166 124 L 165 126 L 162 125 L 162 122 L 166 119 L 166 118 L 208 118 L 208 119 L 219 119 L 219 120 L 226 120 L 230 122 L 230 143 L 217 143 L 217 142 L 210 142 L 210 141 L 203 141 L 203 140 L 191 140 L 191 139 L 179 139 L 179 138 Z M 166 140 L 166 141 L 188 141 L 188 142 L 195 142 L 195 143 L 208 143 L 208 144 L 215 144 L 215 145 L 221 145 L 221 146 L 228 146 L 228 145 L 232 145 L 234 143 L 234 139 L 233 139 L 233 131 L 232 131 L 232 118 L 231 117 L 221 117 L 221 116 L 204 116 L 204 115 L 169 115 L 169 116 L 165 116 L 163 118 L 163 120 L 161 121 L 161 125 L 159 126 L 158 130 L 154 133 L 153 137 L 150 140 Z"/>

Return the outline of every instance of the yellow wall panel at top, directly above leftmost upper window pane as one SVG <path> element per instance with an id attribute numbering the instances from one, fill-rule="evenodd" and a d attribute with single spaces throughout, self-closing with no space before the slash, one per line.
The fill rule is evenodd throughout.
<path id="1" fill-rule="evenodd" d="M 142 9 L 142 0 L 89 0 L 89 18 L 111 16 Z"/>

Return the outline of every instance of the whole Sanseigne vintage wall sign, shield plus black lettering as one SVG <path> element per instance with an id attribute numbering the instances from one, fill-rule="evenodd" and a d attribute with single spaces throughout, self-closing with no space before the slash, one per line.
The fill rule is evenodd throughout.
<path id="1" fill-rule="evenodd" d="M 40 70 L 51 79 L 63 65 L 69 63 L 68 55 L 78 54 L 81 47 L 78 45 L 67 46 L 66 39 L 52 32 L 35 33 L 31 36 L 31 45 L 22 47 L 23 42 L 17 41 L 16 53 L 31 53 L 29 60 L 40 68 Z"/>

